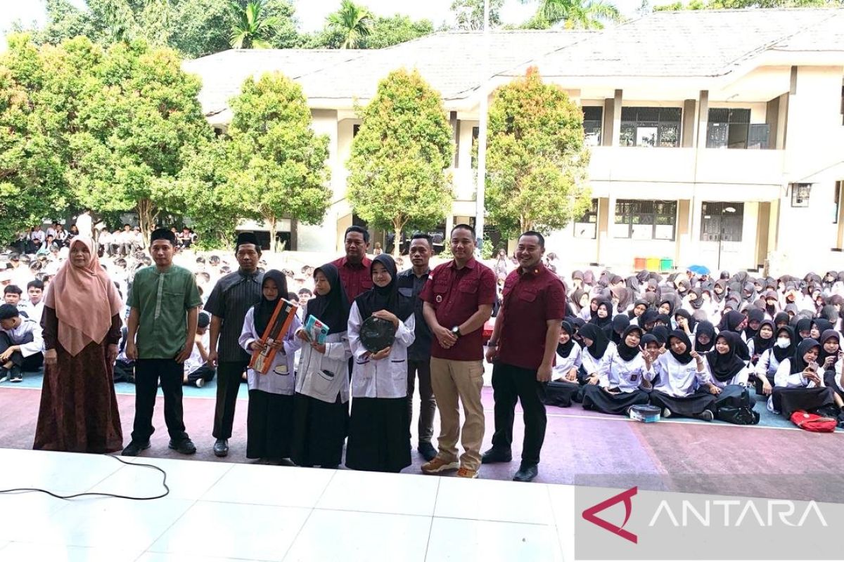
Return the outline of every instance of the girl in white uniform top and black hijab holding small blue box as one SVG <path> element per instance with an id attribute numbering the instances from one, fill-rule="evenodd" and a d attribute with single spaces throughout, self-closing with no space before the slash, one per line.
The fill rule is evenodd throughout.
<path id="1" fill-rule="evenodd" d="M 294 436 L 290 458 L 301 466 L 337 468 L 349 425 L 349 301 L 336 265 L 314 270 L 314 292 L 303 316 L 328 326 L 325 343 L 308 340 L 304 331 L 296 370 Z M 405 431 L 407 427 L 405 426 Z M 409 447 L 409 445 L 408 445 Z"/>

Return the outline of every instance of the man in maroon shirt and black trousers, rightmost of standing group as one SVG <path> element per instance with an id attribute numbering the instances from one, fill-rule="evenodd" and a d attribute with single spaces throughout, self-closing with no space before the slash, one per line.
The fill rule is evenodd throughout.
<path id="1" fill-rule="evenodd" d="M 501 308 L 486 351 L 486 360 L 495 364 L 495 434 L 482 462 L 510 462 L 518 399 L 525 420 L 522 465 L 513 477 L 518 482 L 530 482 L 538 474 L 539 451 L 545 439 L 544 385 L 551 378 L 560 323 L 565 317 L 565 287 L 543 265 L 544 253 L 542 234 L 529 230 L 519 237 L 519 269 L 504 281 Z"/>

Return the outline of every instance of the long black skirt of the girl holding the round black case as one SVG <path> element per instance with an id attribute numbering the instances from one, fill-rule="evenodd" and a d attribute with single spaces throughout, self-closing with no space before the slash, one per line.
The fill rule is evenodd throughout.
<path id="1" fill-rule="evenodd" d="M 410 466 L 408 399 L 352 399 L 346 466 L 374 472 Z"/>

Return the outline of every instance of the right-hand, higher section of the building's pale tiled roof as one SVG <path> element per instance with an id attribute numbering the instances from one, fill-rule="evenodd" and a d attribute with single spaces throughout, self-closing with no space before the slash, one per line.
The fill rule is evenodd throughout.
<path id="1" fill-rule="evenodd" d="M 539 59 L 543 76 L 715 77 L 793 40 L 838 51 L 841 9 L 746 9 L 657 12 L 593 35 Z M 833 22 L 837 23 L 837 28 Z M 836 35 L 821 36 L 820 27 Z M 798 50 L 798 49 L 793 49 Z M 506 72 L 517 75 L 523 68 Z"/>

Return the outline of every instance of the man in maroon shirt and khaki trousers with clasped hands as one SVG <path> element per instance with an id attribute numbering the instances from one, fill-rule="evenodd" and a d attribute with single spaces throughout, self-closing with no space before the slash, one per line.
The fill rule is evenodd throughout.
<path id="1" fill-rule="evenodd" d="M 484 323 L 495 302 L 495 274 L 475 261 L 473 227 L 452 228 L 454 260 L 431 271 L 419 295 L 422 313 L 434 338 L 430 350 L 430 383 L 440 410 L 439 451 L 422 465 L 425 474 L 457 470 L 457 476 L 477 478 L 484 441 Z M 457 463 L 461 435 L 457 399 L 463 404 L 463 455 Z"/>

